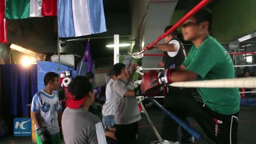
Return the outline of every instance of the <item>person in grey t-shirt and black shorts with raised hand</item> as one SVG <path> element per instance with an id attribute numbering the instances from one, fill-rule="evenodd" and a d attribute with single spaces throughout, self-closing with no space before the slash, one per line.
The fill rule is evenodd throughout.
<path id="1" fill-rule="evenodd" d="M 118 143 L 136 143 L 138 137 L 138 121 L 141 119 L 139 113 L 136 91 L 132 80 L 136 71 L 135 64 L 130 64 L 131 73 L 126 70 L 126 65 L 118 63 L 113 69 L 117 80 L 114 82 L 115 95 L 115 137 Z M 138 89 L 140 90 L 140 89 Z"/>

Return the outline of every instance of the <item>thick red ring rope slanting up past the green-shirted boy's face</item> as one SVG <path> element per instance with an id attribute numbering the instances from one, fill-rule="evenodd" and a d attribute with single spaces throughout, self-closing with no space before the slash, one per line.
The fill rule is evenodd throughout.
<path id="1" fill-rule="evenodd" d="M 201 10 L 201 8 L 203 8 L 204 6 L 206 6 L 207 4 L 209 4 L 209 2 L 211 2 L 211 0 L 202 0 L 199 4 L 197 4 L 194 8 L 192 8 L 192 10 L 190 10 L 188 13 L 185 14 L 185 16 L 183 16 L 180 20 L 178 20 L 177 23 L 175 23 L 175 25 L 173 25 L 168 31 L 166 31 L 164 34 L 160 35 L 160 37 L 158 37 L 153 43 L 151 43 L 147 49 L 149 49 L 150 47 L 152 47 L 154 44 L 158 43 L 160 40 L 162 40 L 163 38 L 165 38 L 167 35 L 171 34 L 172 31 L 174 31 L 174 29 L 177 29 L 178 26 L 180 26 L 182 23 L 184 23 L 187 19 L 189 19 L 189 17 L 193 16 L 195 13 L 197 13 L 197 11 Z"/>

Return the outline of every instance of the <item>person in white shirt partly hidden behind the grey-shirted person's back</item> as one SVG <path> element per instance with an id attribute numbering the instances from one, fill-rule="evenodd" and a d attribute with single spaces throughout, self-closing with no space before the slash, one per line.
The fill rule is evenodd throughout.
<path id="1" fill-rule="evenodd" d="M 109 71 L 108 76 L 111 79 L 106 85 L 106 101 L 102 107 L 102 123 L 106 130 L 113 127 L 115 124 L 115 95 L 113 90 L 113 84 L 115 82 L 115 79 L 117 79 L 113 69 Z"/>

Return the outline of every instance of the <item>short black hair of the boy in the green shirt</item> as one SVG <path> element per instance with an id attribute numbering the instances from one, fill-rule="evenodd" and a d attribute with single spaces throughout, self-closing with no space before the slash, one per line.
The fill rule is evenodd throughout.
<path id="1" fill-rule="evenodd" d="M 188 11 L 187 11 L 188 12 Z M 202 8 L 197 13 L 194 14 L 194 17 L 197 20 L 197 23 L 201 22 L 209 22 L 209 28 L 208 31 L 212 31 L 212 12 L 209 10 L 209 8 Z"/>

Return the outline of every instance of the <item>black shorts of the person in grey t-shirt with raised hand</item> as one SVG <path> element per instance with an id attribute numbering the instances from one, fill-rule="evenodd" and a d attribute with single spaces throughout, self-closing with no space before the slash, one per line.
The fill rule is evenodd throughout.
<path id="1" fill-rule="evenodd" d="M 133 122 L 127 125 L 115 124 L 115 137 L 117 138 L 118 144 L 136 143 L 139 131 L 139 122 Z"/>

